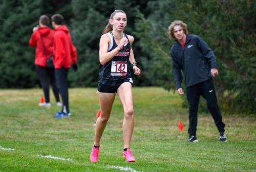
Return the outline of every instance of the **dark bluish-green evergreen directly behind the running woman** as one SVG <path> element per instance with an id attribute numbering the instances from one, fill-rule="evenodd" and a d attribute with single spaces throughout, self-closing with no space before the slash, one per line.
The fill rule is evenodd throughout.
<path id="1" fill-rule="evenodd" d="M 73 87 L 96 87 L 98 84 L 99 40 L 109 17 L 115 9 L 123 10 L 127 15 L 125 33 L 134 35 L 136 9 L 145 7 L 146 1 L 72 1 L 74 18 L 72 19 L 72 36 L 78 53 L 77 73 L 70 73 Z M 140 64 L 140 51 L 137 38 L 133 45 L 135 58 Z M 132 70 L 132 69 L 131 69 Z M 143 84 L 145 79 L 133 77 L 135 85 Z"/>

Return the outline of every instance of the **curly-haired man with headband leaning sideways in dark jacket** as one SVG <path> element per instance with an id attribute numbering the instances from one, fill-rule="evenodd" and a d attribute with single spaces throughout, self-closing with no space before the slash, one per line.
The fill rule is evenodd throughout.
<path id="1" fill-rule="evenodd" d="M 214 53 L 206 42 L 198 35 L 188 35 L 187 25 L 175 20 L 168 27 L 168 34 L 176 39 L 170 49 L 173 62 L 173 73 L 179 94 L 184 92 L 181 87 L 184 73 L 187 101 L 189 104 L 188 142 L 198 142 L 196 137 L 198 105 L 202 95 L 207 101 L 208 110 L 214 118 L 219 130 L 219 141 L 227 141 L 225 124 L 217 104 L 217 97 L 212 77 L 218 76 L 217 62 Z"/>

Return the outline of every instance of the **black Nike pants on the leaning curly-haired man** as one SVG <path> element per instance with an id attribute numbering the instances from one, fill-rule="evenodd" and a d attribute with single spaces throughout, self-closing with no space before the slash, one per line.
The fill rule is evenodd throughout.
<path id="1" fill-rule="evenodd" d="M 217 97 L 214 88 L 214 81 L 212 79 L 200 82 L 196 85 L 186 88 L 187 101 L 189 104 L 189 127 L 188 134 L 196 136 L 197 119 L 198 119 L 198 105 L 200 96 L 207 101 L 207 107 L 214 118 L 215 124 L 219 132 L 224 132 L 225 124 L 222 122 L 222 115 L 217 104 Z"/>

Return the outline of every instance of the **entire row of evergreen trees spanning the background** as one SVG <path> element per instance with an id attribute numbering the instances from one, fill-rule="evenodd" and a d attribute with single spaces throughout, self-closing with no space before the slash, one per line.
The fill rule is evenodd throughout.
<path id="1" fill-rule="evenodd" d="M 174 0 L 87 1 L 2 0 L 0 4 L 0 88 L 33 88 L 39 85 L 34 71 L 34 48 L 28 41 L 40 15 L 60 13 L 78 53 L 78 71 L 70 70 L 72 87 L 96 87 L 99 40 L 115 9 L 127 14 L 125 33 L 133 35 L 133 50 L 142 72 L 135 85 L 160 85 L 175 91 L 167 35 L 173 20 L 188 24 L 217 57 L 220 75 L 216 91 L 224 111 L 255 112 L 256 2 Z M 51 27 L 51 26 L 50 26 Z M 185 99 L 185 96 L 183 96 Z M 186 101 L 184 101 L 186 102 Z M 202 102 L 203 103 L 203 102 Z M 204 105 L 203 105 L 204 106 Z M 203 107 L 202 106 L 202 107 Z"/>

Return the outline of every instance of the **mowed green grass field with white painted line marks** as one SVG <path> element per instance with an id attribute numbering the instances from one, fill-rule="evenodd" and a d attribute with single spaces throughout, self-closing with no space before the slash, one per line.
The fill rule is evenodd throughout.
<path id="1" fill-rule="evenodd" d="M 47 108 L 38 106 L 41 89 L 0 90 L 0 171 L 256 171 L 255 114 L 223 114 L 228 142 L 219 142 L 214 120 L 199 112 L 199 142 L 187 143 L 181 97 L 156 87 L 133 88 L 136 162 L 122 157 L 123 107 L 116 96 L 99 162 L 92 163 L 97 89 L 69 89 L 69 95 L 71 117 L 56 119 L 52 92 Z"/>

